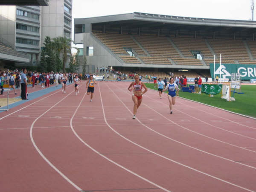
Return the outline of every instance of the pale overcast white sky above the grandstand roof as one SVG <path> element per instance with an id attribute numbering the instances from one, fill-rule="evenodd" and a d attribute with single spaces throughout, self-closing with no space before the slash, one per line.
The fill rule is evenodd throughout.
<path id="1" fill-rule="evenodd" d="M 73 19 L 142 12 L 183 17 L 249 20 L 252 17 L 250 10 L 251 1 L 252 0 L 73 0 Z M 256 20 L 255 12 L 256 5 L 254 20 Z M 80 46 L 76 47 L 81 48 Z"/>

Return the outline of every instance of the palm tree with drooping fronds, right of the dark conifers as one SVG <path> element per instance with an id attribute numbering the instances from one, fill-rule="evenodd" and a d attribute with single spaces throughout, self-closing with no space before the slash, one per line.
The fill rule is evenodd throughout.
<path id="1" fill-rule="evenodd" d="M 58 55 L 62 53 L 63 72 L 65 72 L 65 63 L 67 62 L 68 54 L 71 55 L 71 39 L 65 37 L 56 37 L 52 39 L 55 45 L 55 50 Z"/>

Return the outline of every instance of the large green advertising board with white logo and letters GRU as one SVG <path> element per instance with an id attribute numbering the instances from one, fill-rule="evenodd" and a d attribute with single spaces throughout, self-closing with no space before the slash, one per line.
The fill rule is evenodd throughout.
<path id="1" fill-rule="evenodd" d="M 221 70 L 221 78 L 231 79 L 232 73 L 240 73 L 241 80 L 250 80 L 255 79 L 256 77 L 256 65 L 253 64 L 220 64 L 215 63 L 215 77 L 220 77 Z M 213 78 L 214 74 L 214 64 L 210 64 L 211 76 Z M 214 77 L 214 78 L 215 78 Z"/>

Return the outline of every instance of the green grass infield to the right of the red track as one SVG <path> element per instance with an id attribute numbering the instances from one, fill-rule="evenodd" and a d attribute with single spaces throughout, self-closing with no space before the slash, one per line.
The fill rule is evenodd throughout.
<path id="1" fill-rule="evenodd" d="M 145 83 L 148 88 L 157 90 L 154 88 L 153 83 Z M 236 101 L 228 102 L 225 99 L 221 99 L 221 93 L 214 95 L 213 97 L 209 97 L 209 95 L 202 93 L 187 93 L 179 91 L 179 96 L 191 99 L 193 101 L 205 103 L 207 105 L 212 105 L 218 108 L 226 109 L 228 111 L 233 111 L 235 113 L 240 113 L 247 116 L 256 117 L 256 86 L 254 85 L 242 85 L 241 92 L 244 94 L 234 94 L 234 98 Z M 166 91 L 167 93 L 167 91 Z M 157 93 L 156 93 L 157 94 Z M 231 92 L 231 96 L 232 96 Z M 157 94 L 158 96 L 158 94 Z"/>

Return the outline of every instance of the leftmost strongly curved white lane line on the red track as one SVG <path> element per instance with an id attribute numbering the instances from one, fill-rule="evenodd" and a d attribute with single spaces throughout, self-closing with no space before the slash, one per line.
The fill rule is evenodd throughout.
<path id="1" fill-rule="evenodd" d="M 71 93 L 73 93 L 74 91 L 72 91 Z M 67 96 L 69 96 L 71 93 L 69 93 Z M 55 105 L 53 105 L 51 108 L 49 108 L 47 111 L 45 111 L 43 114 L 41 114 L 40 116 L 38 116 L 38 118 L 35 119 L 34 122 L 32 122 L 32 125 L 30 127 L 30 139 L 35 147 L 35 149 L 38 151 L 38 153 L 41 155 L 41 157 L 43 157 L 43 159 L 49 164 L 49 166 L 52 167 L 52 169 L 54 169 L 56 172 L 58 172 L 58 174 L 60 174 L 65 180 L 67 180 L 68 183 L 70 183 L 72 186 L 74 186 L 77 190 L 81 191 L 82 189 L 77 186 L 75 183 L 73 183 L 66 175 L 64 175 L 60 170 L 58 170 L 45 156 L 44 154 L 39 150 L 38 146 L 35 144 L 35 141 L 33 139 L 33 134 L 32 134 L 32 129 L 33 126 L 35 124 L 35 122 L 41 117 L 43 116 L 45 113 L 47 113 L 48 111 L 50 111 L 52 108 L 54 108 L 56 105 L 58 105 L 61 101 L 63 101 L 64 99 L 67 98 L 67 96 L 65 96 L 63 99 L 61 99 L 59 102 L 57 102 Z"/>

